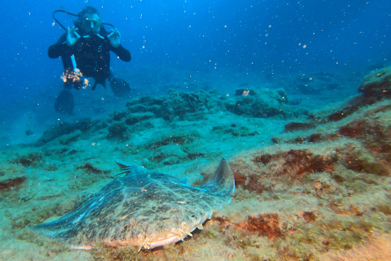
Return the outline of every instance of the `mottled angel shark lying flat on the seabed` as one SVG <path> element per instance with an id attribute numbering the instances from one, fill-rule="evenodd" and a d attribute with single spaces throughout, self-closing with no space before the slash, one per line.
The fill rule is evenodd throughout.
<path id="1" fill-rule="evenodd" d="M 37 225 L 72 249 L 105 246 L 139 247 L 140 251 L 183 241 L 211 219 L 213 211 L 231 202 L 235 181 L 222 159 L 211 181 L 191 187 L 172 176 L 142 172 L 118 163 L 126 174 L 56 221 Z"/>

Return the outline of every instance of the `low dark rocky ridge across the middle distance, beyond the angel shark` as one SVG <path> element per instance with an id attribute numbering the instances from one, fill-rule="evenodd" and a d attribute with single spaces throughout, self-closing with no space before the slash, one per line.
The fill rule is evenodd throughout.
<path id="1" fill-rule="evenodd" d="M 130 113 L 150 112 L 157 118 L 167 121 L 198 120 L 207 113 L 228 110 L 236 115 L 252 116 L 258 118 L 280 117 L 289 118 L 301 115 L 303 112 L 293 112 L 285 90 L 266 91 L 257 93 L 254 90 L 238 89 L 235 95 L 218 97 L 215 92 L 203 90 L 192 93 L 170 90 L 167 95 L 160 97 L 143 96 L 133 98 L 127 102 L 126 107 Z M 116 116 L 114 120 L 122 118 Z M 127 123 L 128 124 L 128 123 Z"/>

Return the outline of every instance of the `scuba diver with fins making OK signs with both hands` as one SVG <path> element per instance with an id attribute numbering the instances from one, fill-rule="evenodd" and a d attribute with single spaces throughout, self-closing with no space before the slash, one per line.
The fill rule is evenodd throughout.
<path id="1" fill-rule="evenodd" d="M 55 17 L 56 12 L 63 12 L 77 16 L 74 20 L 74 27 L 66 29 Z M 119 59 L 129 62 L 130 53 L 121 44 L 119 31 L 109 23 L 102 23 L 98 10 L 87 6 L 78 15 L 64 10 L 53 12 L 53 18 L 66 31 L 60 39 L 48 49 L 49 58 L 62 58 L 64 65 L 64 90 L 60 92 L 54 102 L 54 110 L 72 114 L 73 96 L 71 88 L 78 90 L 88 85 L 86 77 L 93 77 L 95 83 L 106 87 L 106 79 L 110 82 L 111 90 L 116 96 L 124 96 L 130 91 L 129 85 L 120 78 L 113 75 L 110 69 L 110 54 L 113 51 Z M 113 27 L 107 32 L 103 24 Z M 84 80 L 83 80 L 84 79 Z"/>

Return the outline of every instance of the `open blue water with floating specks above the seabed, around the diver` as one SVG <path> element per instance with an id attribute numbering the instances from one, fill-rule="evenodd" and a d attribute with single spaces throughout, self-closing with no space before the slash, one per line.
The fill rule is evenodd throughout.
<path id="1" fill-rule="evenodd" d="M 98 8 L 101 19 L 121 32 L 121 43 L 132 60 L 125 63 L 113 56 L 111 65 L 133 93 L 159 91 L 176 70 L 187 75 L 185 82 L 199 81 L 207 73 L 221 83 L 257 79 L 278 83 L 279 77 L 326 72 L 339 79 L 353 74 L 359 84 L 370 70 L 387 65 L 391 55 L 388 0 L 3 1 L 2 145 L 15 135 L 16 119 L 31 119 L 18 129 L 22 135 L 29 124 L 55 122 L 59 117 L 51 110 L 62 90 L 63 67 L 60 59 L 47 57 L 47 48 L 63 30 L 53 25 L 51 13 L 55 9 L 77 13 L 86 5 Z M 58 18 L 71 25 L 69 16 Z M 167 79 L 143 86 L 165 70 Z M 344 91 L 354 94 L 358 84 Z M 219 87 L 225 88 L 211 86 Z M 336 92 L 330 95 L 335 97 Z"/>

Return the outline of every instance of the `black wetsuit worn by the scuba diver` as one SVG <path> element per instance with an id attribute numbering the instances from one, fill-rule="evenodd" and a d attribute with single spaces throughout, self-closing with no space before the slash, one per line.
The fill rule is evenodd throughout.
<path id="1" fill-rule="evenodd" d="M 95 83 L 105 86 L 106 79 L 110 76 L 110 54 L 113 51 L 122 61 L 129 62 L 131 57 L 127 49 L 122 45 L 117 48 L 110 44 L 107 38 L 108 33 L 103 26 L 100 28 L 100 36 L 92 35 L 83 37 L 79 29 L 80 39 L 73 45 L 67 45 L 67 33 L 48 49 L 49 58 L 59 58 L 61 56 L 64 69 L 73 69 L 71 56 L 75 56 L 77 68 L 83 76 L 94 77 Z M 72 84 L 70 81 L 67 84 Z M 74 86 L 78 89 L 76 86 Z"/>

